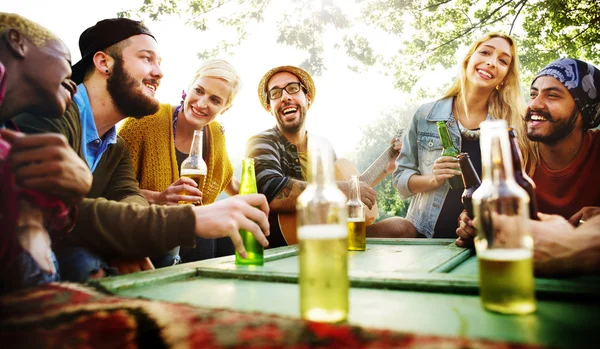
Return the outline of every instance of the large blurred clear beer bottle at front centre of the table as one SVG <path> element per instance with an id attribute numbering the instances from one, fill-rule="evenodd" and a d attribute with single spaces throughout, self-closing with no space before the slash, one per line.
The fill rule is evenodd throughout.
<path id="1" fill-rule="evenodd" d="M 309 183 L 296 202 L 300 263 L 300 316 L 317 322 L 348 318 L 346 196 L 333 177 L 333 149 L 308 141 Z"/>

